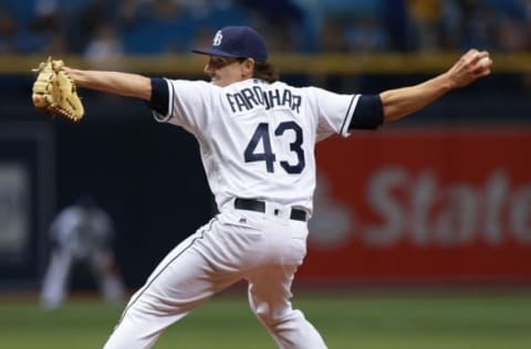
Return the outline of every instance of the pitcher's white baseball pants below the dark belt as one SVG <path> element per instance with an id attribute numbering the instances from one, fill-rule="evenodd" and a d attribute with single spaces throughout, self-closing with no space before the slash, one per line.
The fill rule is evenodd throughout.
<path id="1" fill-rule="evenodd" d="M 160 262 L 132 296 L 104 349 L 150 348 L 164 329 L 242 278 L 249 283 L 252 311 L 279 348 L 326 348 L 290 302 L 294 273 L 306 253 L 306 222 L 290 219 L 290 208 L 270 203 L 266 213 L 221 211 Z"/>

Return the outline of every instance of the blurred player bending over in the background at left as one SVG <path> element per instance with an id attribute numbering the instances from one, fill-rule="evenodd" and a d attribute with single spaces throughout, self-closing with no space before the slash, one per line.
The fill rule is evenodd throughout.
<path id="1" fill-rule="evenodd" d="M 80 263 L 94 272 L 105 300 L 121 304 L 125 288 L 111 245 L 113 236 L 111 216 L 90 195 L 60 211 L 50 226 L 52 253 L 42 284 L 42 306 L 54 309 L 63 303 L 71 272 Z"/>

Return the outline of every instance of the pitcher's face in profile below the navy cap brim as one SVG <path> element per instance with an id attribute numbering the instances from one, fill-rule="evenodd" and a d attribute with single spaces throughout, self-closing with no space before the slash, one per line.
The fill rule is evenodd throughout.
<path id="1" fill-rule="evenodd" d="M 209 56 L 205 73 L 212 84 L 227 86 L 252 76 L 252 60 Z"/>

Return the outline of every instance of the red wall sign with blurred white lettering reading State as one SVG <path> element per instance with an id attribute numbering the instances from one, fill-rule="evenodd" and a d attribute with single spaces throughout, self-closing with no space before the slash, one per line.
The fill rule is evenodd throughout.
<path id="1" fill-rule="evenodd" d="M 530 154 L 531 128 L 323 141 L 300 277 L 531 282 Z"/>

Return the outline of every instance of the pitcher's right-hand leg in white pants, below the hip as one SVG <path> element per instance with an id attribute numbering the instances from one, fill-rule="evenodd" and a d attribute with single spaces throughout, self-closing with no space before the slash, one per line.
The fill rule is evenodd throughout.
<path id="1" fill-rule="evenodd" d="M 293 309 L 290 298 L 295 266 L 269 266 L 249 277 L 249 303 L 268 328 L 279 348 L 326 348 L 317 330 L 302 311 Z"/>

